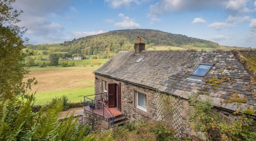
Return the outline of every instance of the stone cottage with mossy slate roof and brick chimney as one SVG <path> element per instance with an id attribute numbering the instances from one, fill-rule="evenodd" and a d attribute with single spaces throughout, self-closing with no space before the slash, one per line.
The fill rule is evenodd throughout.
<path id="1" fill-rule="evenodd" d="M 134 50 L 120 51 L 94 72 L 95 94 L 103 93 L 107 112 L 122 115 L 117 114 L 113 124 L 120 119 L 121 124 L 144 118 L 163 119 L 161 94 L 179 97 L 173 101 L 172 118 L 179 137 L 200 135 L 189 127 L 191 96 L 210 98 L 213 110 L 227 121 L 235 119 L 234 111 L 249 109 L 255 116 L 255 50 L 145 51 L 145 43 L 141 42 L 134 44 Z M 84 123 L 108 127 L 106 118 L 96 109 L 92 112 L 85 108 Z"/>

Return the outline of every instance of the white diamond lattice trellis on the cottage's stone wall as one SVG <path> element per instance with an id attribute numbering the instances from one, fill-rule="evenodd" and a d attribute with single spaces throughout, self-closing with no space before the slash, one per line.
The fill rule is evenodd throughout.
<path id="1" fill-rule="evenodd" d="M 162 97 L 161 97 L 161 93 L 157 93 L 157 120 L 167 120 L 167 119 L 171 119 L 172 124 L 173 124 L 173 128 L 175 128 L 177 130 L 177 134 L 176 136 L 178 138 L 181 137 L 181 124 L 182 124 L 182 102 L 179 98 L 175 98 L 173 97 L 173 117 L 166 117 L 164 114 L 164 110 L 163 109 L 163 101 L 162 101 Z"/>

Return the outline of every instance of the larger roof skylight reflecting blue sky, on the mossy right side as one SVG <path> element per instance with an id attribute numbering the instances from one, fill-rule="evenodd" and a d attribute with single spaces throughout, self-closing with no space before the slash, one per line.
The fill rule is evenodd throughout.
<path id="1" fill-rule="evenodd" d="M 204 77 L 208 71 L 213 67 L 211 63 L 200 63 L 191 75 Z"/>

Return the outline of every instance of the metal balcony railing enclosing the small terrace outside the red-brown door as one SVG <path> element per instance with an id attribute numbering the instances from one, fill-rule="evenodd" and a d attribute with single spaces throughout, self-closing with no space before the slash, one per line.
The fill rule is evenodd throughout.
<path id="1" fill-rule="evenodd" d="M 105 101 L 108 100 L 107 92 L 84 96 L 83 99 L 85 109 L 101 115 L 103 118 L 107 118 L 111 122 L 111 125 L 114 126 L 115 116 L 105 104 Z"/>

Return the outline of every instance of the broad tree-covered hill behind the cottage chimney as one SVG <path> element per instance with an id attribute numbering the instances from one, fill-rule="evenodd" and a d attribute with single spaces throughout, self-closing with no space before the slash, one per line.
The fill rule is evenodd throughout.
<path id="1" fill-rule="evenodd" d="M 54 47 L 55 51 L 67 51 L 77 56 L 89 56 L 93 58 L 109 59 L 119 51 L 133 50 L 137 37 L 142 37 L 142 42 L 146 43 L 146 48 L 155 45 L 166 45 L 181 47 L 185 49 L 217 49 L 218 43 L 197 39 L 180 34 L 172 34 L 153 29 L 124 29 L 115 30 L 98 35 L 86 36 L 72 41 L 65 41 L 60 46 Z M 47 44 L 28 45 L 34 50 L 45 50 Z M 49 49 L 49 48 L 48 48 Z"/>

